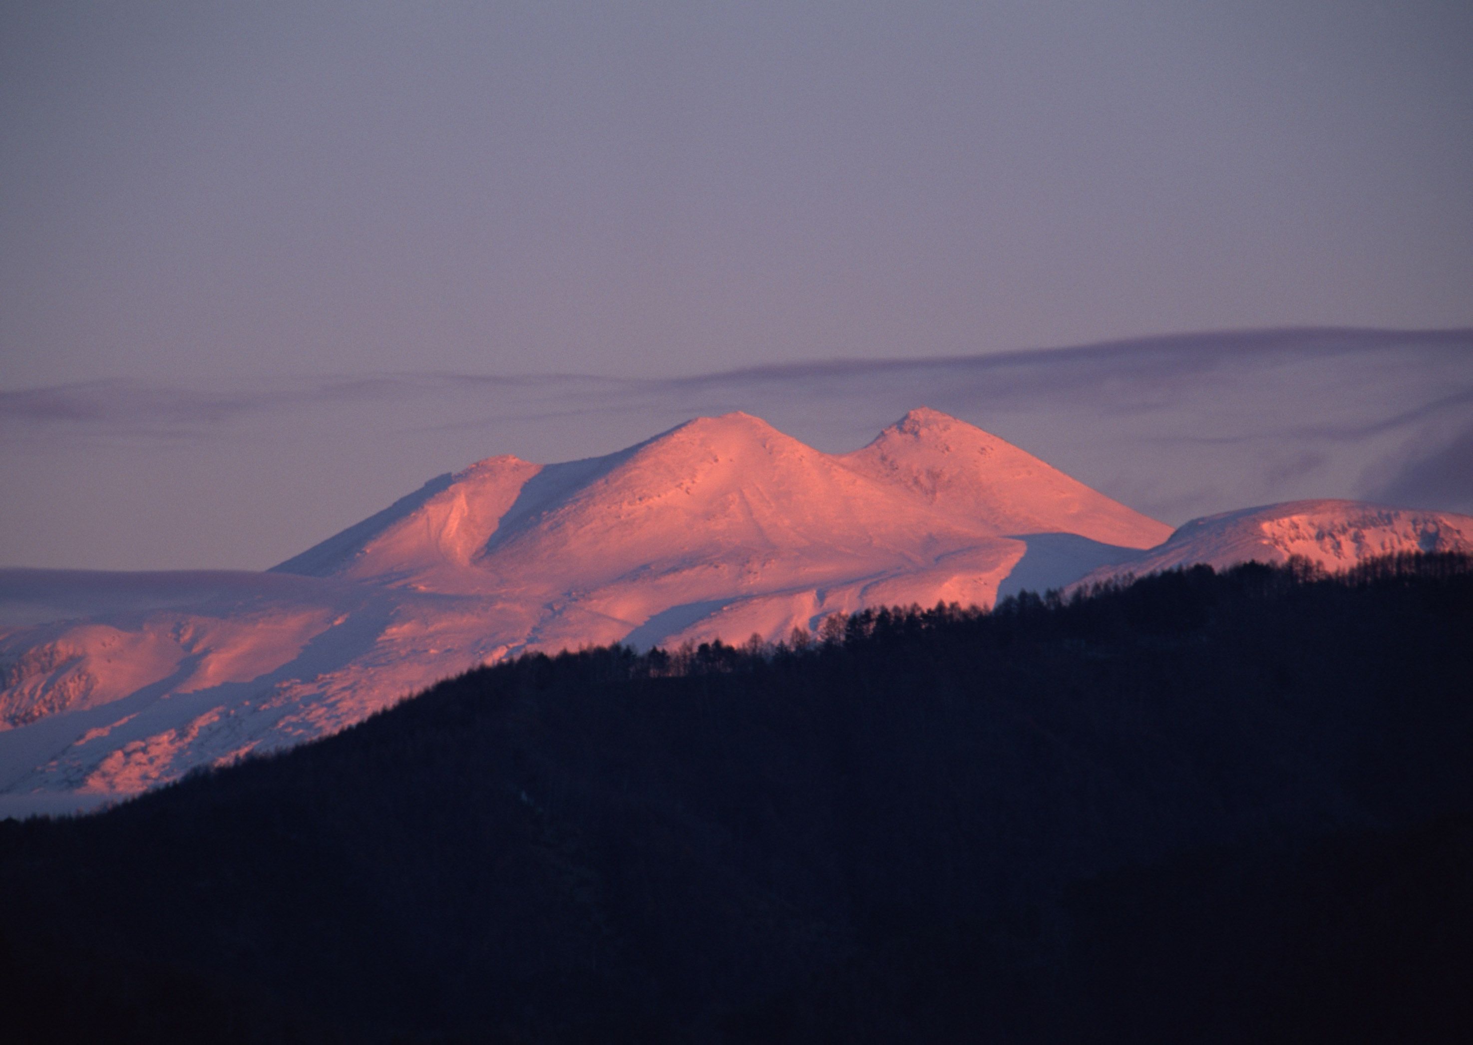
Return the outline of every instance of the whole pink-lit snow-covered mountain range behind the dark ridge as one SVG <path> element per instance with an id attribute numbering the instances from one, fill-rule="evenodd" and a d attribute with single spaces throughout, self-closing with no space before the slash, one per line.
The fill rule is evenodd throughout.
<path id="1" fill-rule="evenodd" d="M 290 746 L 526 649 L 782 639 L 1332 533 L 1357 556 L 1473 550 L 1466 517 L 1309 503 L 1299 530 L 1289 505 L 1173 534 L 935 411 L 846 455 L 731 414 L 604 458 L 488 458 L 265 574 L 0 571 L 0 815 Z"/>

